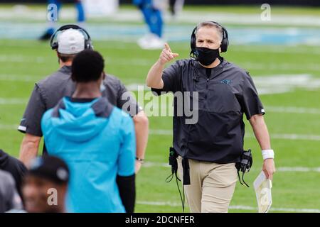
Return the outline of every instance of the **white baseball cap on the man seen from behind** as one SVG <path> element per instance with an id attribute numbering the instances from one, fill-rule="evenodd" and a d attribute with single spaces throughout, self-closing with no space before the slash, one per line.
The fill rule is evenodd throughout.
<path id="1" fill-rule="evenodd" d="M 85 50 L 85 36 L 77 29 L 69 28 L 57 37 L 58 52 L 66 55 L 78 54 Z"/>

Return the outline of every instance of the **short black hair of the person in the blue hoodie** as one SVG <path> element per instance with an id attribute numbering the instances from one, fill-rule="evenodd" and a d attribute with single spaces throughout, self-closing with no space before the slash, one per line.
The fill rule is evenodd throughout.
<path id="1" fill-rule="evenodd" d="M 74 82 L 92 82 L 100 79 L 105 60 L 95 50 L 82 50 L 73 59 L 71 79 Z"/>

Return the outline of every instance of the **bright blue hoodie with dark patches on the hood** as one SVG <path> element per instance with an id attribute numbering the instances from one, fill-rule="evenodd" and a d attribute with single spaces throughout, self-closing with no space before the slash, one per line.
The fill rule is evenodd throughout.
<path id="1" fill-rule="evenodd" d="M 134 175 L 132 118 L 107 99 L 73 102 L 64 97 L 41 120 L 49 155 L 70 168 L 69 212 L 124 212 L 117 175 Z"/>

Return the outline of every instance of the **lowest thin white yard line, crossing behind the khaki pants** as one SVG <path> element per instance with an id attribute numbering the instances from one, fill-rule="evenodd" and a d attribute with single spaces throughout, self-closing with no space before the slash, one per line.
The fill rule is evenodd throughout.
<path id="1" fill-rule="evenodd" d="M 175 203 L 171 201 L 137 201 L 137 204 L 140 205 L 149 205 L 149 206 L 181 206 L 181 203 Z M 187 205 L 187 204 L 186 204 Z M 253 206 L 229 206 L 229 209 L 232 210 L 245 210 L 245 211 L 256 211 L 257 207 Z M 296 208 L 271 208 L 270 211 L 286 211 L 286 212 L 297 212 L 297 213 L 320 213 L 319 209 L 296 209 Z"/>

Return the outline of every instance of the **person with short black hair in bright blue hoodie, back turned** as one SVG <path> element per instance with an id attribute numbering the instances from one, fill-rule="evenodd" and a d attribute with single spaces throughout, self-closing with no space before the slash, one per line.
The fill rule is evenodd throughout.
<path id="1" fill-rule="evenodd" d="M 134 123 L 129 114 L 102 99 L 105 62 L 83 50 L 73 60 L 76 89 L 46 111 L 41 128 L 49 155 L 67 162 L 68 212 L 134 211 Z"/>

